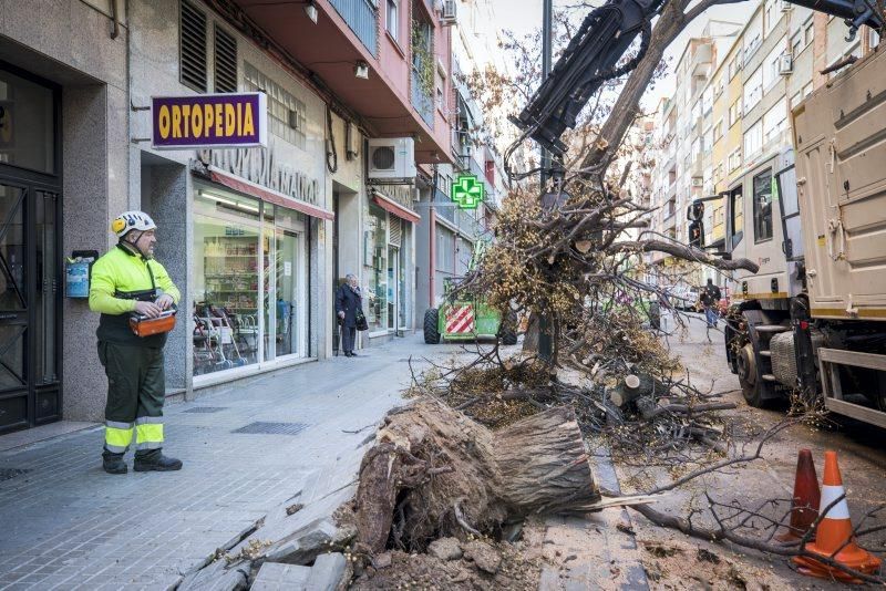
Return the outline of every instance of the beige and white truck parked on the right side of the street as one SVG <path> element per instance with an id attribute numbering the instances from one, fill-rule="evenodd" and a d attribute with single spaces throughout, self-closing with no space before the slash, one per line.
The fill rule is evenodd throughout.
<path id="1" fill-rule="evenodd" d="M 886 427 L 886 123 L 870 100 L 886 89 L 883 49 L 800 103 L 796 145 L 722 194 L 727 251 L 760 265 L 735 273 L 725 329 L 751 406 L 800 387 Z"/>

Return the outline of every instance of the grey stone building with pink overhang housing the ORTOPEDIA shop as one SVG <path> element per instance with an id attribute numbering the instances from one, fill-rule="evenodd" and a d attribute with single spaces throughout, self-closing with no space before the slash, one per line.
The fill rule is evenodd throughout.
<path id="1" fill-rule="evenodd" d="M 7 7 L 0 434 L 102 418 L 99 318 L 65 294 L 65 261 L 112 248 L 110 221 L 128 209 L 157 222 L 156 257 L 182 291 L 167 395 L 333 354 L 348 273 L 370 323 L 361 346 L 414 329 L 416 187 L 431 176 L 373 178 L 369 160 L 373 142 L 409 138 L 398 158 L 413 167 L 453 162 L 452 21 L 433 2 L 379 4 L 70 0 L 39 3 L 39 18 Z M 244 93 L 266 101 L 264 147 L 152 143 L 153 100 Z M 227 125 L 217 108 L 166 124 Z"/>

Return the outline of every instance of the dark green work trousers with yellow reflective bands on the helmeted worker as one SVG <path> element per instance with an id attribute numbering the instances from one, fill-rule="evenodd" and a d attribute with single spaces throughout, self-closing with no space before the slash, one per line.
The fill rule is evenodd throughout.
<path id="1" fill-rule="evenodd" d="M 99 341 L 99 360 L 107 375 L 105 458 L 122 457 L 133 435 L 136 457 L 157 457 L 166 395 L 163 349 Z"/>

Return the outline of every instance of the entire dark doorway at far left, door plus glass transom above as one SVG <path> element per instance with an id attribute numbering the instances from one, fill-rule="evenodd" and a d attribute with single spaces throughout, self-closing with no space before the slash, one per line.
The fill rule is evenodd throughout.
<path id="1" fill-rule="evenodd" d="M 0 434 L 62 414 L 60 97 L 0 61 Z"/>

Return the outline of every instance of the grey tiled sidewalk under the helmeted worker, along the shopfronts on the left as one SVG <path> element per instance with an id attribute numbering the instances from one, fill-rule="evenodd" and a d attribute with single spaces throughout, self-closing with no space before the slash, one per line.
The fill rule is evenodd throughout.
<path id="1" fill-rule="evenodd" d="M 271 508 L 359 466 L 354 450 L 373 431 L 343 429 L 401 401 L 411 353 L 455 349 L 410 335 L 172 404 L 166 450 L 185 463 L 177 473 L 105 474 L 101 427 L 0 452 L 0 470 L 27 470 L 0 480 L 0 589 L 176 585 Z"/>

